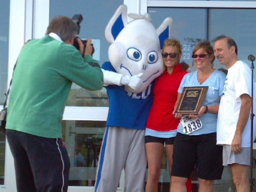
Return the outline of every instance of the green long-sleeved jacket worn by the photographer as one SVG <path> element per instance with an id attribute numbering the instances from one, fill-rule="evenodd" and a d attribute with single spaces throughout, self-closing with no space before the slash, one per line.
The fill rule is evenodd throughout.
<path id="1" fill-rule="evenodd" d="M 61 120 L 72 82 L 101 90 L 103 74 L 91 55 L 50 36 L 30 40 L 20 51 L 9 95 L 6 129 L 62 138 Z"/>

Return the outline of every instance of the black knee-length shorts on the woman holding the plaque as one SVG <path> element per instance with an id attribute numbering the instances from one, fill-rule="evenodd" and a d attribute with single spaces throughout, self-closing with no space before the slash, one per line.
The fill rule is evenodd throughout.
<path id="1" fill-rule="evenodd" d="M 221 179 L 222 146 L 216 145 L 216 133 L 196 136 L 177 134 L 172 176 L 189 178 L 195 166 L 197 177 L 205 180 Z"/>

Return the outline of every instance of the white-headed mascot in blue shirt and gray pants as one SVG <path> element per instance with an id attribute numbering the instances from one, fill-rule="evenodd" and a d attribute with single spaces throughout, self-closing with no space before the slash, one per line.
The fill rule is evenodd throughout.
<path id="1" fill-rule="evenodd" d="M 156 30 L 148 14 L 129 14 L 119 6 L 105 29 L 111 43 L 102 65 L 109 97 L 109 114 L 102 141 L 95 192 L 115 192 L 124 169 L 124 191 L 144 191 L 146 153 L 144 131 L 153 102 L 154 79 L 164 70 L 161 45 L 173 19 Z"/>

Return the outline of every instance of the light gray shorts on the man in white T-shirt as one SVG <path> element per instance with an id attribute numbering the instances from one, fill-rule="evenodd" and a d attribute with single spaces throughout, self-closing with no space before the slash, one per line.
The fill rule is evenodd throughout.
<path id="1" fill-rule="evenodd" d="M 250 150 L 251 147 L 242 147 L 242 152 L 234 154 L 231 150 L 231 145 L 223 145 L 223 165 L 231 165 L 238 163 L 241 165 L 250 166 Z"/>

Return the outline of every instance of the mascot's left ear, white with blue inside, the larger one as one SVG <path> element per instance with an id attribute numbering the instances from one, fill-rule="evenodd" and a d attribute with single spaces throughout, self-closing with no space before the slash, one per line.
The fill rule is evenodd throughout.
<path id="1" fill-rule="evenodd" d="M 115 41 L 117 35 L 127 25 L 127 6 L 120 5 L 115 14 L 111 17 L 105 28 L 105 37 L 111 44 Z"/>

